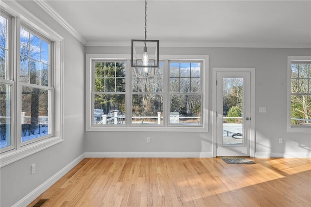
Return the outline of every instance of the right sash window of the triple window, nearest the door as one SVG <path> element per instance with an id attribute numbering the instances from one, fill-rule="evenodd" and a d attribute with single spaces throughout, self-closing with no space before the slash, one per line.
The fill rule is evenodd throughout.
<path id="1" fill-rule="evenodd" d="M 170 125 L 201 124 L 201 62 L 170 62 Z"/>

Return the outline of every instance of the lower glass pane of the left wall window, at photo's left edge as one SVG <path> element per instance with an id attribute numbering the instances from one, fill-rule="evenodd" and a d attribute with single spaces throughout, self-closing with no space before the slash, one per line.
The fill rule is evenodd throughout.
<path id="1" fill-rule="evenodd" d="M 0 84 L 0 148 L 11 145 L 11 86 Z"/>

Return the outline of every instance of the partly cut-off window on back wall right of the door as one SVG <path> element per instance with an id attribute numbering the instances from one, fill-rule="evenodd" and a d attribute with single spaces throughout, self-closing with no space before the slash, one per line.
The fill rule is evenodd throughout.
<path id="1" fill-rule="evenodd" d="M 311 132 L 311 57 L 288 57 L 288 131 Z"/>

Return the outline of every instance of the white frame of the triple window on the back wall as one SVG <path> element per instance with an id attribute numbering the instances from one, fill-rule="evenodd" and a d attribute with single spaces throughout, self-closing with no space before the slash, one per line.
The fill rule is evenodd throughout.
<path id="1" fill-rule="evenodd" d="M 98 61 L 124 61 L 126 62 L 126 114 L 131 116 L 131 67 L 130 67 L 130 54 L 86 54 L 86 131 L 88 132 L 107 132 L 107 131 L 122 131 L 122 132 L 207 132 L 208 131 L 208 55 L 160 55 L 160 61 L 164 61 L 164 108 L 163 114 L 166 116 L 163 117 L 163 124 L 159 125 L 151 125 L 151 126 L 139 126 L 139 125 L 131 125 L 131 119 L 127 117 L 127 125 L 117 125 L 117 126 L 109 126 L 109 125 L 93 125 L 93 100 L 92 100 L 92 88 L 93 88 L 93 69 L 92 63 L 94 60 Z M 198 126 L 172 126 L 169 125 L 169 117 L 167 114 L 169 113 L 169 69 L 168 69 L 168 61 L 202 61 L 202 125 Z M 129 122 L 128 122 L 129 121 Z"/>

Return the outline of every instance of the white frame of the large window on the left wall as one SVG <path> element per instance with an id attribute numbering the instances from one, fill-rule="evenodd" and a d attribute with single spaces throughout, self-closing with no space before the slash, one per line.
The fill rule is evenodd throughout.
<path id="1" fill-rule="evenodd" d="M 6 166 L 10 163 L 13 163 L 19 159 L 27 157 L 29 155 L 33 155 L 39 151 L 42 151 L 48 147 L 51 147 L 57 143 L 63 141 L 63 37 L 58 35 L 55 31 L 51 29 L 48 25 L 43 23 L 40 19 L 31 14 L 28 10 L 18 4 L 16 1 L 7 1 L 1 2 L 1 9 L 6 11 L 8 14 L 12 16 L 12 29 L 11 33 L 13 35 L 12 39 L 12 67 L 13 67 L 13 85 L 15 87 L 15 94 L 12 101 L 14 106 L 15 114 L 12 116 L 12 125 L 14 127 L 15 143 L 13 145 L 13 149 L 10 149 L 6 152 L 2 152 L 0 154 L 0 167 Z M 18 87 L 20 87 L 18 83 L 19 76 L 19 30 L 21 22 L 26 25 L 28 28 L 31 28 L 35 32 L 45 36 L 50 39 L 52 44 L 52 62 L 51 65 L 53 67 L 52 71 L 52 85 L 54 86 L 54 100 L 51 112 L 54 119 L 52 121 L 52 131 L 53 136 L 36 140 L 35 142 L 28 143 L 26 145 L 21 144 L 21 116 L 18 116 L 18 108 L 17 100 L 18 100 Z M 20 126 L 19 126 L 20 125 Z M 50 126 L 49 126 L 50 127 Z M 13 141 L 12 141 L 13 142 Z"/>

